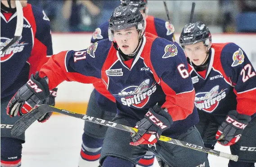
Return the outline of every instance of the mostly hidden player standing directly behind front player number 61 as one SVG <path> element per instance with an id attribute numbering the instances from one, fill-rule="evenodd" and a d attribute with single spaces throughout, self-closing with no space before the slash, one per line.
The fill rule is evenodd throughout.
<path id="1" fill-rule="evenodd" d="M 145 21 L 145 32 L 157 35 L 161 38 L 174 41 L 174 26 L 168 21 L 164 21 L 153 16 L 148 16 L 147 0 L 121 0 L 121 6 L 133 4 L 139 8 Z M 94 31 L 91 43 L 95 43 L 102 39 L 108 39 L 108 21 L 103 23 Z M 103 120 L 112 120 L 117 114 L 115 98 L 108 92 L 102 82 L 94 83 L 94 90 L 90 95 L 86 114 Z M 85 121 L 84 134 L 82 136 L 82 146 L 79 158 L 79 167 L 98 166 L 97 162 L 100 157 L 103 138 L 107 131 L 107 127 L 95 125 Z M 139 160 L 138 166 L 150 167 L 154 163 L 154 154 L 147 154 Z"/>

